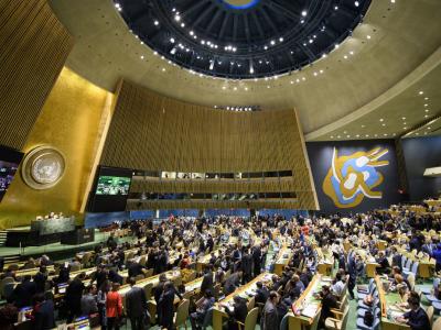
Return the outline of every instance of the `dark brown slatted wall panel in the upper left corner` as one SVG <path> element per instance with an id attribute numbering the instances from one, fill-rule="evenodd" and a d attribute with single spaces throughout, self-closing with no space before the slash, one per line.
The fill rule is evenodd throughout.
<path id="1" fill-rule="evenodd" d="M 0 1 L 0 144 L 23 147 L 72 47 L 46 0 Z"/>

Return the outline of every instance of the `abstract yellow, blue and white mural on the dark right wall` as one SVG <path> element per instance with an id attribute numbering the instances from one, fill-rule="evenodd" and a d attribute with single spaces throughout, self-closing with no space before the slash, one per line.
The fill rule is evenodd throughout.
<path id="1" fill-rule="evenodd" d="M 331 166 L 322 185 L 324 194 L 337 208 L 354 208 L 365 198 L 380 199 L 383 193 L 374 189 L 384 182 L 377 167 L 389 165 L 388 161 L 380 161 L 387 153 L 387 148 L 375 147 L 368 152 L 338 156 L 334 147 Z"/>

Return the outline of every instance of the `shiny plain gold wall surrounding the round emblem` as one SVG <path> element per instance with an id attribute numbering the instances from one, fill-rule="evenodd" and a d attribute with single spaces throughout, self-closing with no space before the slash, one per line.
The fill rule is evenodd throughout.
<path id="1" fill-rule="evenodd" d="M 76 215 L 87 190 L 109 92 L 64 68 L 43 106 L 23 151 L 52 145 L 61 151 L 66 169 L 60 183 L 47 190 L 28 187 L 18 173 L 0 204 L 0 227 L 29 224 L 36 215 L 51 211 Z M 19 168 L 20 170 L 20 168 Z"/>

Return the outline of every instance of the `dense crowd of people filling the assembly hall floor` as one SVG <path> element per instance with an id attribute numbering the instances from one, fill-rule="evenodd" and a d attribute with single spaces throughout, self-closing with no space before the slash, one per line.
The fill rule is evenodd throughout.
<path id="1" fill-rule="evenodd" d="M 379 265 L 377 273 L 389 278 L 391 289 L 400 294 L 404 304 L 408 304 L 410 311 L 400 321 L 407 322 L 411 329 L 429 329 L 424 328 L 428 318 L 419 307 L 419 295 L 402 276 L 401 255 L 394 246 L 405 244 L 409 251 L 430 255 L 437 260 L 437 272 L 441 271 L 440 238 L 428 239 L 421 234 L 422 230 L 441 229 L 441 218 L 412 213 L 406 208 L 398 209 L 398 216 L 397 210 L 394 211 L 394 215 L 373 211 L 347 218 L 216 217 L 125 223 L 131 229 L 132 242 L 119 244 L 110 237 L 106 244 L 96 245 L 89 261 L 89 266 L 96 267 L 92 276 L 78 272 L 71 278 L 73 270 L 83 265 L 80 255 L 62 262 L 53 262 L 46 255 L 29 260 L 23 268 L 40 267 L 33 276 L 20 277 L 13 267 L 2 270 L 1 279 L 11 277 L 19 284 L 7 297 L 8 304 L 0 308 L 0 328 L 13 329 L 13 323 L 19 321 L 19 310 L 31 306 L 28 318 L 37 330 L 52 329 L 57 320 L 69 323 L 82 316 L 94 319 L 101 329 L 119 329 L 123 317 L 129 320 L 131 329 L 147 329 L 152 319 L 163 329 L 173 329 L 175 299 L 182 299 L 185 287 L 168 279 L 164 272 L 180 270 L 185 283 L 185 277 L 195 272 L 196 263 L 208 255 L 196 275 L 203 277 L 201 299 L 190 306 L 192 328 L 198 329 L 217 300 L 222 301 L 222 297 L 235 293 L 259 274 L 271 273 L 278 250 L 286 245 L 290 248 L 292 257 L 280 276 L 273 274 L 270 279 L 256 284 L 255 301 L 261 310 L 261 329 L 279 329 L 282 318 L 309 286 L 320 262 L 315 246 L 330 252 L 335 270 L 331 285 L 324 285 L 318 294 L 322 304 L 320 328 L 324 327 L 331 310 L 338 306 L 346 288 L 349 298 L 355 299 L 356 285 L 366 280 L 365 257 L 357 252 L 363 250 Z M 388 248 L 378 249 L 378 241 L 387 242 Z M 351 244 L 351 251 L 344 249 L 345 243 Z M 127 258 L 126 252 L 132 249 L 135 255 Z M 56 275 L 49 271 L 53 266 L 57 270 Z M 152 290 L 157 306 L 154 316 L 148 312 L 144 290 L 136 286 L 139 275 L 149 271 L 159 275 L 159 284 Z M 125 272 L 127 276 L 122 275 Z M 62 284 L 66 284 L 65 293 L 57 300 L 54 295 L 60 294 Z M 123 284 L 131 286 L 123 297 L 125 304 L 119 293 Z M 369 304 L 367 298 L 364 302 Z M 229 316 L 228 329 L 237 329 L 237 322 L 245 322 L 246 304 L 246 299 L 239 296 L 234 297 L 234 308 L 220 304 Z"/>

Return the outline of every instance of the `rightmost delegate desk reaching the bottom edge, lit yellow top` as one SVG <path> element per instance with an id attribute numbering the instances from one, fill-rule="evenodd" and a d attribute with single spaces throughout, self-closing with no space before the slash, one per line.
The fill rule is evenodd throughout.
<path id="1" fill-rule="evenodd" d="M 381 307 L 381 330 L 409 330 L 409 326 L 395 320 L 405 314 L 405 310 L 397 306 L 397 302 L 401 302 L 399 294 L 386 293 L 379 276 L 375 277 L 375 284 L 378 289 Z"/>

